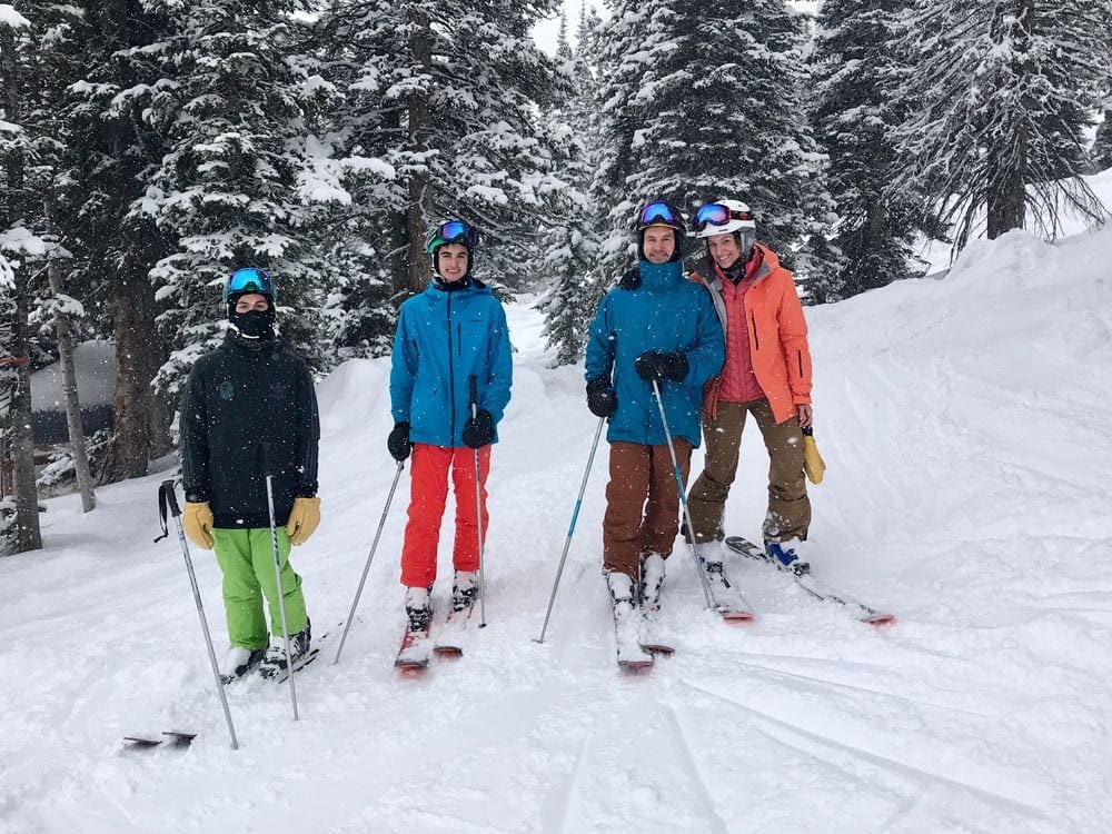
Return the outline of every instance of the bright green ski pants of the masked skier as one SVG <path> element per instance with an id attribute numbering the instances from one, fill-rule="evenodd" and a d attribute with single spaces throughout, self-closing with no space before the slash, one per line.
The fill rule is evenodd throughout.
<path id="1" fill-rule="evenodd" d="M 228 642 L 242 648 L 264 648 L 267 620 L 262 614 L 262 597 L 270 607 L 270 633 L 281 637 L 281 612 L 278 608 L 278 586 L 275 582 L 274 544 L 269 527 L 250 529 L 212 528 L 217 564 L 224 572 L 224 612 L 228 620 Z M 289 564 L 289 536 L 278 528 L 278 555 L 281 564 L 281 587 L 286 602 L 286 625 L 289 633 L 305 628 L 305 595 L 301 577 Z"/>

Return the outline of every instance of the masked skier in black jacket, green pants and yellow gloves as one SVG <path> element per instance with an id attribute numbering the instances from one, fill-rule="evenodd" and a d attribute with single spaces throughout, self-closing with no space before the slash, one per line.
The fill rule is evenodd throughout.
<path id="1" fill-rule="evenodd" d="M 289 663 L 275 580 L 264 454 L 269 460 L 281 589 L 294 668 L 309 652 L 301 577 L 289 564 L 320 523 L 317 444 L 320 425 L 305 361 L 275 332 L 274 280 L 264 269 L 236 270 L 225 284 L 230 327 L 224 344 L 193 365 L 181 403 L 182 526 L 215 549 L 224 573 L 230 648 L 226 681 L 261 664 L 277 676 Z M 266 448 L 264 449 L 264 445 Z M 268 647 L 262 597 L 270 608 Z"/>

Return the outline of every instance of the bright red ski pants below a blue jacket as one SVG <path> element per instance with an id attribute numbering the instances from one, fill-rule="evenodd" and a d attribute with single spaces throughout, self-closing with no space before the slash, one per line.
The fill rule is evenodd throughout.
<path id="1" fill-rule="evenodd" d="M 479 449 L 479 488 L 483 500 L 483 538 L 489 516 L 486 479 L 490 471 L 490 446 Z M 436 550 L 440 519 L 448 499 L 448 474 L 456 494 L 456 543 L 451 564 L 456 570 L 479 569 L 479 543 L 475 527 L 475 450 L 414 444 L 409 470 L 409 522 L 401 546 L 401 584 L 429 588 L 436 580 Z"/>

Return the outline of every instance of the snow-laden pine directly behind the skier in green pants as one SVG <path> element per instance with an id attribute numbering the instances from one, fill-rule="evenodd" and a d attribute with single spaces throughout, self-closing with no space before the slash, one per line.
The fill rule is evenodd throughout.
<path id="1" fill-rule="evenodd" d="M 305 166 L 306 85 L 297 62 L 294 0 L 200 0 L 176 8 L 173 33 L 155 51 L 165 80 L 147 122 L 166 150 L 147 199 L 168 252 L 151 270 L 171 350 L 158 371 L 176 397 L 197 357 L 222 335 L 220 288 L 240 266 L 275 276 L 282 336 L 320 367 L 324 268 L 312 211 L 298 190 Z"/>

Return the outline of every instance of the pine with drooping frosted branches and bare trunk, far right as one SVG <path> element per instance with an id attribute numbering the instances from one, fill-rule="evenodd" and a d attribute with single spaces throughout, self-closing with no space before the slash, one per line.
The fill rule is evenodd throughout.
<path id="1" fill-rule="evenodd" d="M 1105 93 L 1106 0 L 916 0 L 904 43 L 915 102 L 898 130 L 901 175 L 955 222 L 955 251 L 1032 220 L 1061 230 L 1063 209 L 1105 210 L 1080 178 L 1089 112 Z"/>

